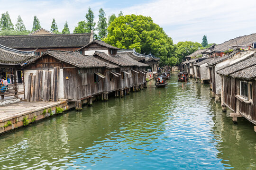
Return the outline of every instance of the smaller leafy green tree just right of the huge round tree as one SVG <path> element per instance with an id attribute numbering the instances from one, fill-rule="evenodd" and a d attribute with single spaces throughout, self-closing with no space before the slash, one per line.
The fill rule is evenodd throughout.
<path id="1" fill-rule="evenodd" d="M 175 46 L 178 63 L 185 60 L 186 56 L 192 54 L 193 52 L 203 49 L 201 43 L 191 41 L 178 42 Z"/>

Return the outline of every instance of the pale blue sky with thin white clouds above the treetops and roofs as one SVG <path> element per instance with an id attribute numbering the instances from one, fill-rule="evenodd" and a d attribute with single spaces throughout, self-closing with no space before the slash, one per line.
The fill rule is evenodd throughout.
<path id="1" fill-rule="evenodd" d="M 174 43 L 202 42 L 220 44 L 238 36 L 256 33 L 256 0 L 0 0 L 0 14 L 8 11 L 15 25 L 18 15 L 28 30 L 36 15 L 41 26 L 50 30 L 52 19 L 61 32 L 65 21 L 73 32 L 85 20 L 91 7 L 98 21 L 99 9 L 111 14 L 136 14 L 152 17 Z"/>

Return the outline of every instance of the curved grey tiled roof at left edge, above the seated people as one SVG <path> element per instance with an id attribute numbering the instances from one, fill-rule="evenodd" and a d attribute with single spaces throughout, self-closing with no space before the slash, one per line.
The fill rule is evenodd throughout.
<path id="1" fill-rule="evenodd" d="M 19 51 L 0 45 L 1 64 L 23 64 L 35 58 L 35 51 Z"/>

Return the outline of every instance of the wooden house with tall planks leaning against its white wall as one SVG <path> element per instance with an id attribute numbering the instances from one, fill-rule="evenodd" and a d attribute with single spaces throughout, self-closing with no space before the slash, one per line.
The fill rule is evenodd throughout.
<path id="1" fill-rule="evenodd" d="M 117 68 L 80 52 L 46 51 L 23 66 L 27 101 L 77 101 L 107 93 L 115 84 L 109 72 Z"/>

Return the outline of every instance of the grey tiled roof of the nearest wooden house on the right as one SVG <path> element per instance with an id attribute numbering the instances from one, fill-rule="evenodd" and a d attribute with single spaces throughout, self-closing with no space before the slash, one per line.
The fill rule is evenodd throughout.
<path id="1" fill-rule="evenodd" d="M 254 65 L 256 65 L 256 55 L 251 55 L 251 56 L 247 57 L 246 59 L 243 59 L 243 60 L 238 61 L 226 68 L 222 68 L 222 69 L 216 71 L 216 73 L 219 75 L 228 76 L 237 71 L 240 71 L 242 69 L 245 69 L 245 68 L 248 68 L 248 67 L 251 67 Z"/>

